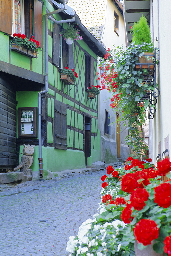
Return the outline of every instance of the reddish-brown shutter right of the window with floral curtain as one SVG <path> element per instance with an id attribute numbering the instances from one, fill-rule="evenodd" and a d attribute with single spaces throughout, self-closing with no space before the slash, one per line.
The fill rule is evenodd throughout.
<path id="1" fill-rule="evenodd" d="M 42 3 L 38 0 L 34 0 L 34 37 L 39 41 L 39 47 L 43 48 Z"/>

